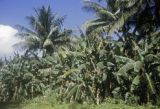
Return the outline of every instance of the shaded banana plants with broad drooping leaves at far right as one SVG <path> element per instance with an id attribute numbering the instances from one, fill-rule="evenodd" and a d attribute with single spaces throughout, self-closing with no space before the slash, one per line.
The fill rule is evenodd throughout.
<path id="1" fill-rule="evenodd" d="M 152 36 L 153 37 L 153 36 Z M 158 38 L 159 39 L 159 38 Z M 156 39 L 156 41 L 160 41 Z M 131 92 L 139 96 L 139 101 L 155 102 L 159 95 L 159 53 L 154 53 L 153 41 L 141 41 L 137 44 L 132 40 L 136 56 L 134 59 L 125 56 L 116 56 L 119 70 L 116 74 L 118 83 L 123 93 Z M 156 43 L 158 44 L 158 43 Z"/>

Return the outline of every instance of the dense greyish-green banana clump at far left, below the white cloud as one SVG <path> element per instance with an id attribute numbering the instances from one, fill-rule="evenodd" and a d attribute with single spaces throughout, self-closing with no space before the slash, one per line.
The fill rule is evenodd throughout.
<path id="1" fill-rule="evenodd" d="M 15 56 L 0 70 L 1 100 L 19 101 L 33 98 L 44 93 L 45 78 L 36 70 L 35 59 Z"/>

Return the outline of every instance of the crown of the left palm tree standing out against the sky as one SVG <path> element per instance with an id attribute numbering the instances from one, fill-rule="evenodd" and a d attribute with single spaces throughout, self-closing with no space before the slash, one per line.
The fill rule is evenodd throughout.
<path id="1" fill-rule="evenodd" d="M 64 29 L 62 25 L 64 17 L 57 17 L 53 14 L 50 6 L 47 8 L 42 6 L 34 9 L 35 16 L 26 17 L 30 24 L 30 29 L 17 25 L 21 30 L 18 35 L 24 39 L 16 44 L 25 49 L 27 53 L 35 51 L 43 51 L 43 54 L 52 54 L 59 45 L 69 42 L 71 30 Z"/>

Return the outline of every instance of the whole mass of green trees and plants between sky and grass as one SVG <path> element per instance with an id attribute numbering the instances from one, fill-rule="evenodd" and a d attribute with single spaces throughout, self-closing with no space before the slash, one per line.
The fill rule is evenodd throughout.
<path id="1" fill-rule="evenodd" d="M 51 21 L 45 20 L 43 14 L 52 13 L 42 7 L 38 21 L 29 17 L 36 33 L 26 28 L 20 33 L 36 39 L 25 40 L 27 53 L 32 55 L 15 55 L 0 64 L 0 100 L 31 99 L 54 92 L 61 102 L 100 104 L 111 97 L 128 104 L 158 104 L 160 5 L 151 1 L 106 0 L 106 7 L 100 5 L 101 0 L 85 2 L 85 10 L 96 13 L 96 19 L 87 22 L 86 32 L 80 31 L 67 46 L 56 46 L 55 40 L 68 42 L 71 31 L 60 31 L 62 19 L 53 24 L 53 16 Z M 57 21 L 60 23 L 54 25 Z M 35 54 L 37 49 L 45 50 L 45 55 Z"/>

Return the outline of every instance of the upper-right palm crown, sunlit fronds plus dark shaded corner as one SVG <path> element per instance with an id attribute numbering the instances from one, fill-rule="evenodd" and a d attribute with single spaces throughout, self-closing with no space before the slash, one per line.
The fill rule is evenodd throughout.
<path id="1" fill-rule="evenodd" d="M 88 33 L 95 31 L 114 33 L 117 30 L 126 32 L 135 27 L 134 33 L 142 34 L 142 31 L 150 29 L 148 26 L 152 27 L 151 25 L 159 22 L 160 8 L 158 0 L 104 1 L 106 3 L 105 6 L 101 5 L 101 3 L 85 1 L 84 8 L 96 14 L 96 18 L 88 21 L 85 25 Z"/>

